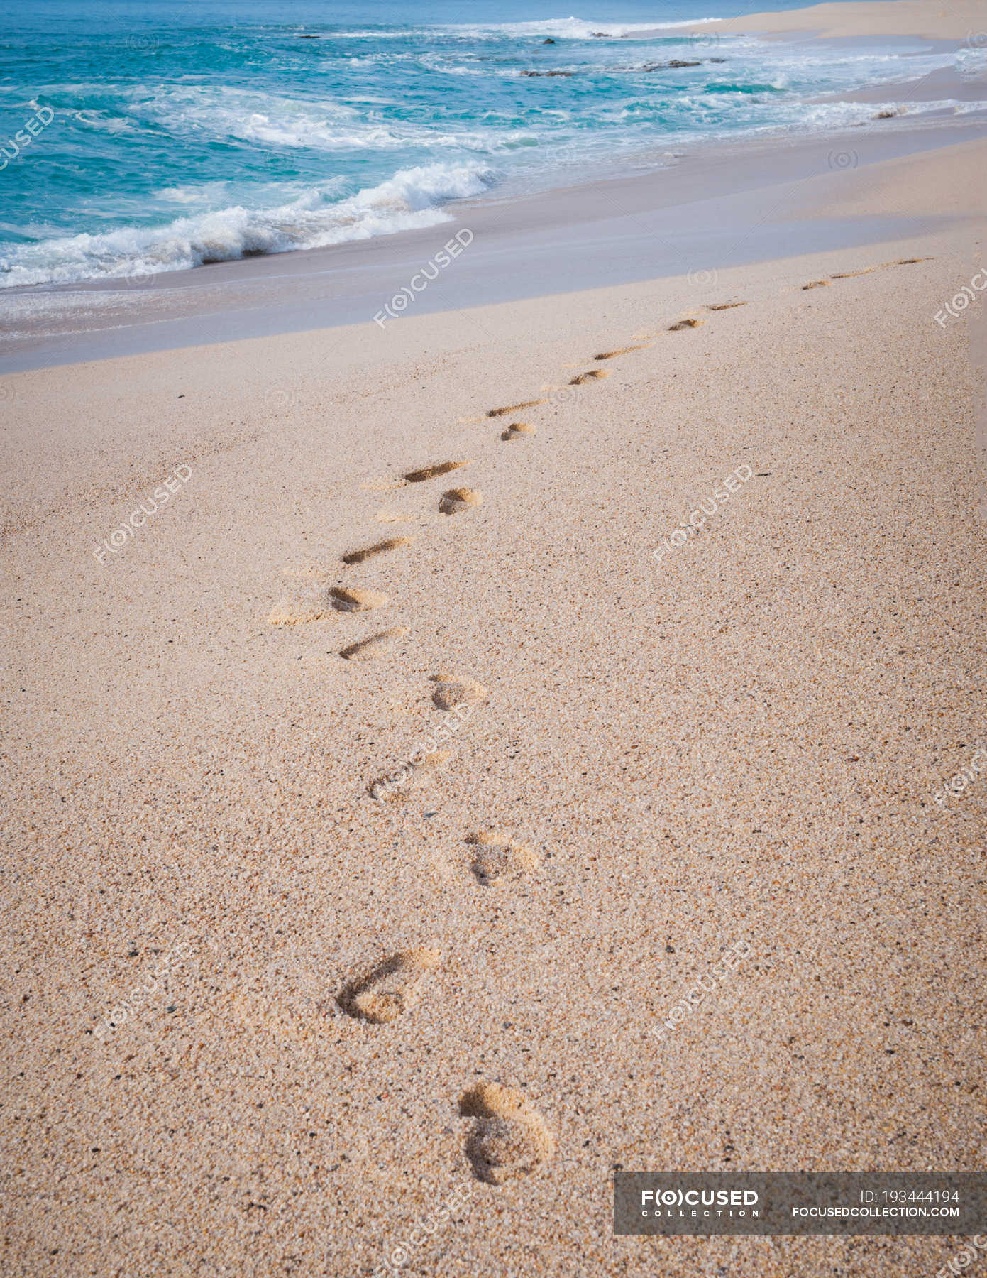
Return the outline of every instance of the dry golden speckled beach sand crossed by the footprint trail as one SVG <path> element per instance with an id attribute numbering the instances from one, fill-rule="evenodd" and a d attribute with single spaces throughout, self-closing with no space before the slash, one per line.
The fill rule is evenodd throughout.
<path id="1" fill-rule="evenodd" d="M 0 381 L 5 1273 L 947 1263 L 610 1212 L 983 1166 L 986 156 L 793 212 L 907 238 Z"/>

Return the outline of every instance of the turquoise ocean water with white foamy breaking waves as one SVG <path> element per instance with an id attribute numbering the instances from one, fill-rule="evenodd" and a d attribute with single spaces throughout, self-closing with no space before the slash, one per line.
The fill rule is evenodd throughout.
<path id="1" fill-rule="evenodd" d="M 815 100 L 984 59 L 704 33 L 738 13 L 739 0 L 589 0 L 575 17 L 555 0 L 11 6 L 0 285 L 428 226 L 457 198 L 673 164 L 706 138 L 868 120 L 872 104 Z"/>

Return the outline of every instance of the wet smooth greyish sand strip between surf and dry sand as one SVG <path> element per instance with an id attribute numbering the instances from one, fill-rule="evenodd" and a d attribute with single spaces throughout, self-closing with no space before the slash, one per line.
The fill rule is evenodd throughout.
<path id="1" fill-rule="evenodd" d="M 861 0 L 859 8 L 884 13 L 884 5 L 908 5 L 909 13 L 914 9 L 913 0 L 877 0 L 876 5 Z M 790 26 L 767 33 L 780 40 L 815 41 L 817 35 L 795 20 L 804 23 L 804 15 L 815 12 L 776 14 L 779 22 L 785 19 Z M 757 20 L 760 17 L 755 15 Z M 707 26 L 727 29 L 723 22 L 704 24 L 702 29 Z M 870 27 L 866 22 L 857 26 L 852 37 L 840 35 L 829 42 L 848 47 L 866 43 L 872 35 Z M 917 38 L 900 29 L 895 35 Z M 718 38 L 718 33 L 710 38 Z M 959 47 L 950 38 L 936 42 L 949 50 Z M 918 81 L 822 95 L 813 101 L 840 100 L 881 104 L 899 116 L 881 121 L 872 116 L 857 127 L 816 134 L 770 132 L 761 137 L 681 142 L 681 152 L 670 164 L 667 152 L 656 146 L 640 155 L 638 164 L 647 166 L 645 173 L 605 175 L 534 193 L 493 190 L 444 204 L 447 220 L 421 230 L 144 277 L 6 289 L 0 293 L 0 314 L 8 330 L 0 341 L 0 374 L 231 337 L 338 327 L 372 321 L 382 308 L 389 308 L 391 314 L 384 313 L 391 321 L 395 311 L 389 304 L 401 290 L 409 305 L 432 313 L 610 281 L 721 270 L 775 256 L 779 236 L 788 256 L 813 247 L 900 238 L 915 227 L 844 225 L 840 239 L 833 238 L 833 227 L 820 227 L 813 239 L 801 221 L 793 225 L 785 217 L 784 187 L 787 181 L 794 187 L 813 174 L 824 175 L 834 164 L 867 167 L 987 135 L 987 78 L 961 77 L 955 68 L 942 68 Z M 937 101 L 972 106 L 984 102 L 984 110 L 961 115 L 908 112 L 909 104 Z M 757 173 L 755 183 L 752 166 Z M 762 225 L 762 208 L 752 194 L 757 184 L 762 189 L 761 204 L 772 219 L 770 226 Z M 739 216 L 750 222 L 750 236 L 732 234 L 735 211 L 729 204 L 738 192 Z M 684 233 L 683 226 L 688 227 Z M 437 279 L 429 291 L 414 296 L 406 279 L 419 277 L 437 252 L 448 252 L 443 245 L 462 229 L 472 236 L 469 254 L 455 271 Z M 516 270 L 503 270 L 506 256 L 516 258 Z M 575 261 L 580 261 L 578 268 Z"/>

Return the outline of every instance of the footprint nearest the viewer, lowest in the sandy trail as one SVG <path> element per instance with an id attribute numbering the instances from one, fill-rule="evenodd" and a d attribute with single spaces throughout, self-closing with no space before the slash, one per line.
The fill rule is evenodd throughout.
<path id="1" fill-rule="evenodd" d="M 460 1097 L 460 1116 L 476 1120 L 466 1157 L 476 1178 L 488 1185 L 529 1176 L 555 1153 L 544 1118 L 516 1088 L 476 1082 Z"/>

